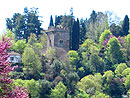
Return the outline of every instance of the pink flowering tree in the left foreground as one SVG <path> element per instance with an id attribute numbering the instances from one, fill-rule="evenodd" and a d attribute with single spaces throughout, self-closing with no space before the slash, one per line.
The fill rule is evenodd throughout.
<path id="1" fill-rule="evenodd" d="M 8 38 L 2 38 L 0 41 L 0 98 L 29 98 L 28 90 L 19 86 L 13 86 L 13 80 L 9 77 L 9 72 L 18 66 L 11 67 L 7 49 L 12 43 Z"/>

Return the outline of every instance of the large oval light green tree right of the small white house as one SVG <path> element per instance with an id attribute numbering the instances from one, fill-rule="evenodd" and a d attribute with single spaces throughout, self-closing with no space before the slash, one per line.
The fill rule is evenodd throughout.
<path id="1" fill-rule="evenodd" d="M 37 79 L 42 70 L 40 57 L 34 52 L 31 47 L 26 47 L 22 55 L 22 63 L 24 64 L 24 73 L 27 77 L 30 75 Z M 31 77 L 30 77 L 31 78 Z"/>

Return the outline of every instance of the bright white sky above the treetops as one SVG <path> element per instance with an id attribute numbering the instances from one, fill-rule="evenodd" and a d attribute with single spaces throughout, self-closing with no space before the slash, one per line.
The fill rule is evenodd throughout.
<path id="1" fill-rule="evenodd" d="M 6 18 L 11 18 L 14 13 L 22 13 L 25 7 L 39 8 L 39 15 L 43 16 L 42 27 L 49 25 L 50 15 L 70 14 L 73 8 L 74 16 L 89 18 L 92 10 L 96 12 L 113 11 L 121 19 L 127 14 L 130 18 L 129 0 L 2 0 L 0 3 L 0 34 L 6 29 Z"/>

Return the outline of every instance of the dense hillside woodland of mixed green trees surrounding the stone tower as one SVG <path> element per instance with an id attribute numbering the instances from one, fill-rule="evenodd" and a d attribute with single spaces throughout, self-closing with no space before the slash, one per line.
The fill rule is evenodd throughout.
<path id="1" fill-rule="evenodd" d="M 56 16 L 55 23 L 53 23 L 53 17 L 50 17 L 49 27 L 59 26 L 68 28 L 70 31 L 70 50 L 61 56 L 55 47 L 46 50 L 48 41 L 46 33 L 43 32 L 38 36 L 42 31 L 39 33 L 33 31 L 40 26 L 37 10 L 25 9 L 26 17 L 14 14 L 12 19 L 7 19 L 7 28 L 12 32 L 7 30 L 5 37 L 12 38 L 13 42 L 8 51 L 18 52 L 22 56 L 21 62 L 17 63 L 18 69 L 9 74 L 11 78 L 14 78 L 14 83 L 11 83 L 9 88 L 13 90 L 13 85 L 27 88 L 31 98 L 130 97 L 128 16 L 126 15 L 122 22 L 111 23 L 109 13 L 92 11 L 89 19 L 77 18 L 76 20 L 73 9 L 70 12 L 70 15 Z M 24 20 L 22 19 L 25 19 L 27 27 L 29 26 L 25 30 L 27 33 L 18 33 L 23 31 L 21 27 Z M 28 20 L 33 19 L 36 19 L 34 20 L 36 24 L 34 21 L 28 23 Z M 5 46 L 2 47 L 5 48 Z M 8 56 L 6 55 L 5 58 L 1 56 L 1 58 L 7 60 Z M 14 65 L 16 64 L 11 66 Z M 1 75 L 0 79 L 2 77 Z M 18 87 L 14 89 L 26 91 Z M 0 91 L 2 93 L 5 91 L 1 83 Z"/>

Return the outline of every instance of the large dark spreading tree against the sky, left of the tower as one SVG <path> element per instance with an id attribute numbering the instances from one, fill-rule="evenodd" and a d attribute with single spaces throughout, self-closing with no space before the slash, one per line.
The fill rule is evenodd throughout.
<path id="1" fill-rule="evenodd" d="M 38 8 L 28 10 L 24 8 L 24 13 L 15 13 L 11 19 L 6 19 L 7 28 L 12 30 L 16 39 L 25 38 L 28 40 L 30 33 L 35 33 L 37 36 L 41 34 L 41 21 L 38 16 Z"/>

